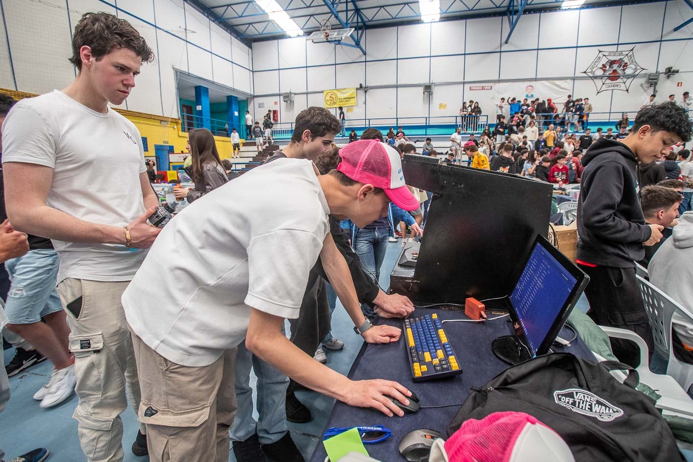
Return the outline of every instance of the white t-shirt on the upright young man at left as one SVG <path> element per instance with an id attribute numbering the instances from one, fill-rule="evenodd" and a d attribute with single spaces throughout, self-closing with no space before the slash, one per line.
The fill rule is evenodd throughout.
<path id="1" fill-rule="evenodd" d="M 3 163 L 53 168 L 48 206 L 112 226 L 144 213 L 142 139 L 137 127 L 111 108 L 106 114 L 93 111 L 58 90 L 27 98 L 5 119 L 2 143 Z M 60 256 L 58 282 L 130 281 L 146 256 L 146 250 L 125 245 L 53 240 L 53 247 Z"/>

